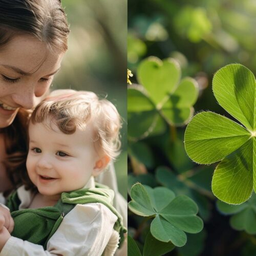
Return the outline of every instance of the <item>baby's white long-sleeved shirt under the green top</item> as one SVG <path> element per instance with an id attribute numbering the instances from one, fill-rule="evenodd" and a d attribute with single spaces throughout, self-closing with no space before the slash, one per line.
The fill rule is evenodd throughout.
<path id="1" fill-rule="evenodd" d="M 94 186 L 91 178 L 86 187 Z M 23 186 L 18 188 L 17 193 L 21 201 L 19 209 L 27 208 L 32 194 Z M 113 255 L 119 240 L 118 232 L 113 229 L 116 220 L 117 216 L 103 204 L 77 204 L 49 239 L 47 250 L 41 245 L 11 237 L 0 256 L 100 256 L 103 252 L 104 255 Z"/>

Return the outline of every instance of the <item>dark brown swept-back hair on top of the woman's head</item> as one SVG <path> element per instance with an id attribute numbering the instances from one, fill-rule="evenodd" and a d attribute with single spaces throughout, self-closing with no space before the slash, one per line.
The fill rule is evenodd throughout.
<path id="1" fill-rule="evenodd" d="M 49 47 L 68 49 L 69 26 L 59 0 L 0 0 L 0 47 L 29 34 Z"/>

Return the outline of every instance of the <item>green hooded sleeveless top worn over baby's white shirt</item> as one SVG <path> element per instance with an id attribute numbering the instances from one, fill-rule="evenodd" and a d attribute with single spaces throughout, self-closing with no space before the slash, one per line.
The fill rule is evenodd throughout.
<path id="1" fill-rule="evenodd" d="M 46 249 L 48 240 L 58 229 L 63 218 L 76 204 L 101 203 L 117 216 L 114 229 L 119 232 L 120 247 L 124 240 L 123 234 L 127 230 L 123 226 L 121 215 L 112 205 L 113 198 L 114 191 L 112 189 L 102 184 L 96 184 L 95 188 L 81 188 L 62 193 L 54 206 L 19 210 L 18 207 L 21 202 L 17 191 L 14 191 L 7 200 L 7 207 L 9 207 L 15 223 L 11 235 L 34 244 L 42 245 Z"/>

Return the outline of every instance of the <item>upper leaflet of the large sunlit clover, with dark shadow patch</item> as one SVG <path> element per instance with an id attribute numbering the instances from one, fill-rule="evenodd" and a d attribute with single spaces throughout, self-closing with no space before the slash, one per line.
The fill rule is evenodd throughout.
<path id="1" fill-rule="evenodd" d="M 212 81 L 212 90 L 220 105 L 249 131 L 256 128 L 255 78 L 243 65 L 227 65 Z"/>

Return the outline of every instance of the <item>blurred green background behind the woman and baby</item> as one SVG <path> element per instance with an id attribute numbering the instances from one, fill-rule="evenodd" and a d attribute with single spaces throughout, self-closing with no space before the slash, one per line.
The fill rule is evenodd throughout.
<path id="1" fill-rule="evenodd" d="M 69 49 L 54 89 L 93 91 L 114 103 L 123 118 L 122 153 L 115 162 L 118 187 L 127 191 L 126 35 L 125 0 L 61 1 L 70 24 Z"/>

